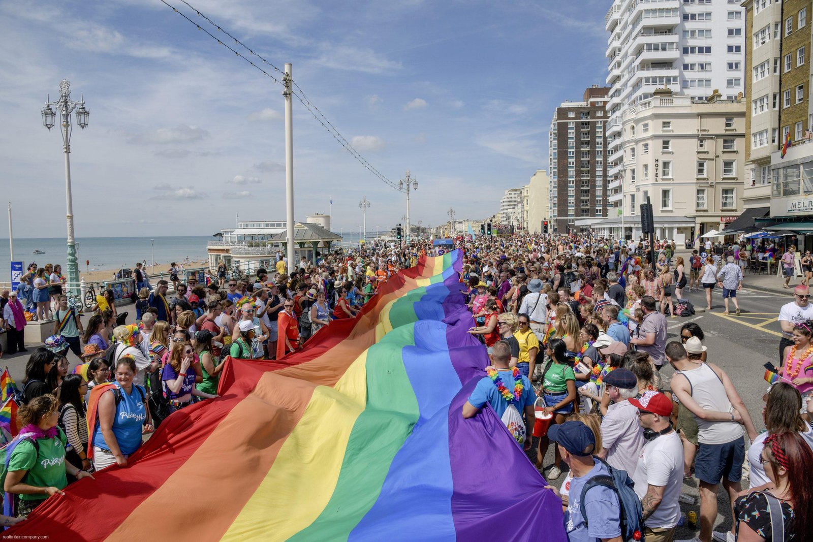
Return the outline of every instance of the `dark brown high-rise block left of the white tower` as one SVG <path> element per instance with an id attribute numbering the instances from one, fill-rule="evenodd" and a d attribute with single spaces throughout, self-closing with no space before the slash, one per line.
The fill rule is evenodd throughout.
<path id="1" fill-rule="evenodd" d="M 560 233 L 580 231 L 606 217 L 606 87 L 564 102 L 550 123 L 550 219 Z"/>

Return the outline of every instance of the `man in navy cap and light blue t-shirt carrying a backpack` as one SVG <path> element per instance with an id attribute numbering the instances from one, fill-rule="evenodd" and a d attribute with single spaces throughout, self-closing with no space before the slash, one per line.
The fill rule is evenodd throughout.
<path id="1" fill-rule="evenodd" d="M 616 369 L 615 371 L 620 371 Z M 613 371 L 613 372 L 615 372 Z M 570 467 L 570 496 L 564 514 L 567 540 L 570 542 L 621 542 L 620 504 L 615 492 L 595 486 L 585 494 L 585 516 L 581 514 L 581 488 L 593 476 L 609 475 L 606 466 L 593 458 L 596 436 L 584 423 L 569 421 L 548 429 L 548 438 L 559 446 L 562 460 Z M 559 491 L 545 486 L 556 496 Z"/>

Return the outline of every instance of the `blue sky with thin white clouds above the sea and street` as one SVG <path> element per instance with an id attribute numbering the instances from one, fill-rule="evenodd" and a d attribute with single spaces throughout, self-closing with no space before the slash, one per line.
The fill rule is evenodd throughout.
<path id="1" fill-rule="evenodd" d="M 168 3 L 201 26 L 180 0 Z M 293 79 L 376 169 L 418 180 L 411 219 L 480 219 L 547 169 L 554 108 L 604 84 L 610 0 L 189 0 Z M 212 33 L 216 33 L 214 28 Z M 0 2 L 0 185 L 15 236 L 63 236 L 61 138 L 40 110 L 85 94 L 72 137 L 77 236 L 211 234 L 285 218 L 282 87 L 159 0 Z M 225 37 L 228 40 L 228 37 Z M 390 227 L 406 197 L 293 105 L 295 215 Z M 7 235 L 6 221 L 0 232 Z"/>

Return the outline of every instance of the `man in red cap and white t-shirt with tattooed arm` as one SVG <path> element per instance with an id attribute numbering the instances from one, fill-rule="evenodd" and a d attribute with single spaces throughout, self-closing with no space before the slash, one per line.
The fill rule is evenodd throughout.
<path id="1" fill-rule="evenodd" d="M 683 445 L 669 423 L 672 400 L 660 392 L 644 392 L 629 403 L 638 409 L 638 423 L 646 439 L 632 473 L 644 509 L 646 541 L 668 542 L 680 520 L 683 485 Z"/>

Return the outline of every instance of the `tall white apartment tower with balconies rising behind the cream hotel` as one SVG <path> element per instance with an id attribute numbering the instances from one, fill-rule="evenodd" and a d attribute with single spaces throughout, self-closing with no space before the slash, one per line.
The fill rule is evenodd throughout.
<path id="1" fill-rule="evenodd" d="M 624 182 L 621 120 L 654 89 L 705 100 L 716 89 L 733 100 L 745 89 L 745 10 L 741 0 L 614 0 L 605 18 L 606 128 L 611 205 Z"/>

